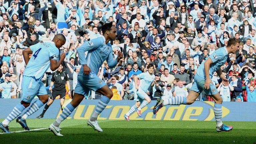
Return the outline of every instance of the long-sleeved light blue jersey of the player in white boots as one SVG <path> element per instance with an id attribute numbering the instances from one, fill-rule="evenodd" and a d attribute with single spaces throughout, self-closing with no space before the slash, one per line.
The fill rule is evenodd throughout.
<path id="1" fill-rule="evenodd" d="M 78 75 L 83 74 L 83 65 L 87 64 L 87 66 L 91 69 L 90 74 L 96 74 L 99 71 L 102 63 L 107 60 L 108 66 L 113 68 L 117 65 L 116 59 L 113 60 L 113 50 L 110 43 L 106 44 L 105 37 L 98 37 L 96 39 L 90 40 L 83 45 L 81 45 L 78 49 L 78 56 L 80 64 L 82 65 L 81 70 Z M 88 51 L 87 57 L 85 58 L 85 52 Z M 89 75 L 90 75 L 89 74 Z"/>

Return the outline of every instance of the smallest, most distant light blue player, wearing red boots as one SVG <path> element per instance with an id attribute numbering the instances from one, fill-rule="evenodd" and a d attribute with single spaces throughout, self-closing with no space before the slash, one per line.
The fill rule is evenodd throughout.
<path id="1" fill-rule="evenodd" d="M 141 73 L 137 76 L 134 76 L 134 83 L 137 93 L 137 100 L 134 106 L 130 108 L 130 110 L 124 115 L 124 118 L 129 121 L 129 116 L 132 114 L 135 110 L 137 110 L 138 115 L 141 117 L 141 109 L 145 107 L 147 104 L 151 102 L 150 97 L 147 95 L 148 88 L 150 86 L 154 86 L 156 83 L 154 72 L 154 65 L 149 64 L 147 66 L 148 72 Z M 137 79 L 140 79 L 140 84 L 138 86 Z"/>

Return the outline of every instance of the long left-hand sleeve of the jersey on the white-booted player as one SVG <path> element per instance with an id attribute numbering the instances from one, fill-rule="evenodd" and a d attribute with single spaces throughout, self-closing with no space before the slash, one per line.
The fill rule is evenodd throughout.
<path id="1" fill-rule="evenodd" d="M 78 49 L 78 57 L 81 65 L 87 64 L 87 61 L 85 59 L 85 52 L 90 51 L 93 49 L 96 49 L 100 47 L 103 44 L 103 38 L 96 38 L 93 40 L 90 40 L 83 45 L 81 45 Z"/>

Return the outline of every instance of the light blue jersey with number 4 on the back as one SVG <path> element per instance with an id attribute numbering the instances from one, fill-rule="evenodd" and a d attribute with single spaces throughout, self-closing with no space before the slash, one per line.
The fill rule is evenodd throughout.
<path id="1" fill-rule="evenodd" d="M 33 51 L 32 56 L 24 70 L 23 76 L 41 79 L 44 73 L 50 67 L 50 59 L 58 60 L 59 49 L 54 42 L 37 43 L 30 46 Z"/>

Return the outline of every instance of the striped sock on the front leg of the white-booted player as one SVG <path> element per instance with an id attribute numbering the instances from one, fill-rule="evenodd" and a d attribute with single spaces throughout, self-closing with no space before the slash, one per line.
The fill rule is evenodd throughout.
<path id="1" fill-rule="evenodd" d="M 103 96 L 97 107 L 95 108 L 92 117 L 90 118 L 91 121 L 95 121 L 97 120 L 97 117 L 100 115 L 100 113 L 105 109 L 105 107 L 108 105 L 108 102 L 110 101 L 110 99 L 106 96 Z"/>

